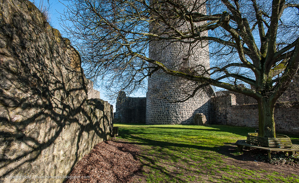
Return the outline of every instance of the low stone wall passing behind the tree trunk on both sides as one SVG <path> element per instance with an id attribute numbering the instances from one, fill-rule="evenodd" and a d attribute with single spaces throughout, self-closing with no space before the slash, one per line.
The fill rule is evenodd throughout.
<path id="1" fill-rule="evenodd" d="M 299 105 L 276 106 L 274 121 L 276 132 L 299 134 Z M 257 104 L 230 106 L 227 108 L 227 123 L 233 126 L 258 128 Z"/>

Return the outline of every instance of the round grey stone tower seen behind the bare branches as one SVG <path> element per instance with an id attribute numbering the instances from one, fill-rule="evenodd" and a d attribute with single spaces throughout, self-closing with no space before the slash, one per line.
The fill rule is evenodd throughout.
<path id="1" fill-rule="evenodd" d="M 205 13 L 205 9 L 201 13 Z M 180 24 L 177 28 L 183 31 L 188 25 Z M 208 36 L 208 32 L 201 35 Z M 176 71 L 198 74 L 210 68 L 208 49 L 208 42 L 186 44 L 156 41 L 149 45 L 149 58 Z M 200 83 L 165 74 L 161 69 L 156 71 L 148 79 L 146 124 L 193 124 L 196 113 L 203 113 L 209 120 L 208 101 L 213 93 L 210 86 L 197 91 L 184 102 L 173 103 L 184 100 L 199 85 Z"/>

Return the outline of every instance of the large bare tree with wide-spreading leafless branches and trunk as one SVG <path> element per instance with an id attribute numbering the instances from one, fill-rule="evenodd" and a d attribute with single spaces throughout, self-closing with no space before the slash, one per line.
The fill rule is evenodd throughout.
<path id="1" fill-rule="evenodd" d="M 162 70 L 198 86 L 245 94 L 258 101 L 259 136 L 275 137 L 275 102 L 298 71 L 298 0 L 72 0 L 69 4 L 65 15 L 73 25 L 65 28 L 75 40 L 88 77 L 102 77 L 111 91 L 130 93 Z M 189 44 L 189 53 L 194 44 L 209 46 L 211 67 L 195 65 L 187 71 L 168 67 L 148 57 L 148 47 L 155 42 Z"/>

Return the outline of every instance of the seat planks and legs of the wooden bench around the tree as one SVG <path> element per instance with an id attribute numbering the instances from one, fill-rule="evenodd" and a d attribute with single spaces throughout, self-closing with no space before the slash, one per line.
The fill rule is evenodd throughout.
<path id="1" fill-rule="evenodd" d="M 248 148 L 255 148 L 255 149 L 261 149 L 265 150 L 268 152 L 268 159 L 269 161 L 271 160 L 271 152 L 276 152 L 276 151 L 283 151 L 283 152 L 288 152 L 289 155 L 293 155 L 293 152 L 298 153 L 299 152 L 299 145 L 298 144 L 293 144 L 292 148 L 273 148 L 273 147 L 261 147 L 257 146 L 254 144 L 247 144 L 246 140 L 237 140 L 235 143 L 238 147 L 238 152 L 242 151 L 243 147 L 248 147 Z"/>

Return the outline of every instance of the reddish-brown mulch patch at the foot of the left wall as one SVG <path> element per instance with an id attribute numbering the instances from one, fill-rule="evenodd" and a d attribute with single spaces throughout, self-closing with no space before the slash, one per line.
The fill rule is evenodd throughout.
<path id="1" fill-rule="evenodd" d="M 130 182 L 132 176 L 141 170 L 136 153 L 137 148 L 132 144 L 110 140 L 101 142 L 78 162 L 69 174 L 71 179 L 64 183 Z M 78 176 L 90 177 L 82 179 Z"/>

